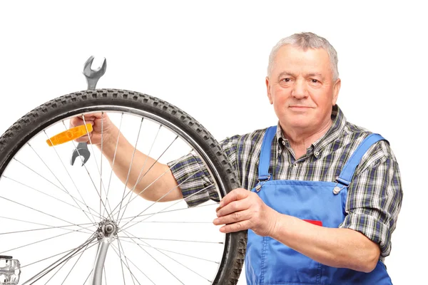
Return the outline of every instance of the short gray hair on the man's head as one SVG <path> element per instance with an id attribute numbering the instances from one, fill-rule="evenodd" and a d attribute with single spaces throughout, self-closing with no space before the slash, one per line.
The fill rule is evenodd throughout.
<path id="1" fill-rule="evenodd" d="M 335 48 L 325 39 L 320 36 L 317 36 L 315 33 L 305 32 L 305 33 L 295 33 L 287 38 L 282 38 L 278 43 L 272 48 L 269 56 L 269 65 L 267 66 L 267 76 L 270 76 L 273 68 L 273 61 L 277 55 L 277 51 L 282 46 L 294 46 L 296 48 L 301 48 L 303 51 L 307 51 L 308 48 L 316 49 L 322 48 L 327 51 L 330 58 L 330 65 L 332 68 L 333 81 L 336 81 L 339 78 L 339 71 L 337 70 L 337 52 Z"/>

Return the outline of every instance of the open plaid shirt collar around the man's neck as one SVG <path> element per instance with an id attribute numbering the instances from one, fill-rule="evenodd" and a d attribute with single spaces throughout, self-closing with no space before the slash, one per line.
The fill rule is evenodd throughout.
<path id="1" fill-rule="evenodd" d="M 322 149 L 330 144 L 330 142 L 337 139 L 342 133 L 342 130 L 345 128 L 346 125 L 346 118 L 343 114 L 342 110 L 340 110 L 339 106 L 336 104 L 332 107 L 332 125 L 330 126 L 330 129 L 327 130 L 327 133 L 325 133 L 320 139 L 312 143 L 310 147 L 307 148 L 307 154 L 310 154 L 310 152 L 313 152 L 315 157 L 319 157 L 321 155 Z M 282 129 L 280 127 L 280 123 L 277 123 L 277 153 L 279 154 L 282 152 L 282 150 L 285 147 L 290 147 L 290 142 L 284 137 L 284 134 L 282 133 Z"/>

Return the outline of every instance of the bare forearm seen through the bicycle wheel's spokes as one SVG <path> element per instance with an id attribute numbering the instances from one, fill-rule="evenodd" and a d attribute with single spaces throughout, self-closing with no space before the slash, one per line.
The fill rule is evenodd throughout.
<path id="1" fill-rule="evenodd" d="M 101 150 L 101 145 L 97 147 Z M 168 165 L 156 162 L 138 150 L 134 153 L 133 145 L 117 129 L 112 130 L 103 142 L 102 151 L 123 184 L 144 199 L 157 201 L 162 198 L 161 202 L 165 202 L 183 198 Z"/>

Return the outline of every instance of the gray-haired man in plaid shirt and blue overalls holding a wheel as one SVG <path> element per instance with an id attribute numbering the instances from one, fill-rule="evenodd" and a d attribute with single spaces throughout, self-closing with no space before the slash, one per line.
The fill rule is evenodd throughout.
<path id="1" fill-rule="evenodd" d="M 225 233 L 248 229 L 248 284 L 392 284 L 382 261 L 402 204 L 399 167 L 387 141 L 347 122 L 336 105 L 340 85 L 337 53 L 325 38 L 283 38 L 272 49 L 266 77 L 277 127 L 221 142 L 243 188 L 221 200 L 213 223 L 224 225 Z M 99 121 L 93 143 L 99 142 Z M 78 124 L 76 118 L 72 125 Z M 103 124 L 103 152 L 111 160 L 118 130 L 108 118 Z M 124 181 L 130 155 L 120 153 L 133 146 L 120 138 L 115 172 Z M 142 166 L 146 155 L 136 155 Z M 152 187 L 156 192 L 142 196 L 156 200 L 178 184 L 166 199 L 194 193 L 188 190 L 193 178 L 183 171 L 194 164 L 186 158 L 157 163 L 147 182 L 170 172 Z M 131 173 L 130 185 L 138 172 Z M 187 202 L 206 199 L 201 193 Z"/>

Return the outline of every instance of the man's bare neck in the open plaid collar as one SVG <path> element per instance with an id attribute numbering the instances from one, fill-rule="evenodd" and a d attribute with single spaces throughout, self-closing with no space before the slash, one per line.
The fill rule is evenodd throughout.
<path id="1" fill-rule="evenodd" d="M 295 152 L 295 159 L 306 154 L 307 147 L 322 138 L 332 126 L 332 120 L 328 120 L 322 128 L 317 130 L 292 130 L 281 125 L 284 137 L 290 142 L 290 147 Z"/>

